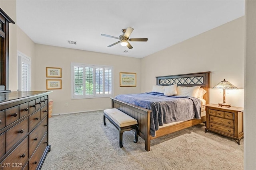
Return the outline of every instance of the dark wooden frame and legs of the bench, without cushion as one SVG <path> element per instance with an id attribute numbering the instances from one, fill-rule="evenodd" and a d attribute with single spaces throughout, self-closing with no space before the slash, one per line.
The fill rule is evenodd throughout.
<path id="1" fill-rule="evenodd" d="M 124 131 L 130 131 L 130 130 L 134 130 L 135 132 L 135 139 L 134 139 L 134 143 L 138 142 L 138 123 L 134 124 L 134 125 L 129 125 L 129 126 L 125 126 L 125 127 L 119 127 L 115 121 L 113 121 L 108 115 L 106 115 L 104 113 L 103 115 L 103 123 L 106 126 L 106 118 L 108 119 L 108 121 L 110 121 L 110 123 L 112 123 L 114 125 L 114 127 L 116 127 L 116 129 L 118 129 L 119 131 L 119 147 L 122 148 L 123 147 L 123 133 Z"/>

